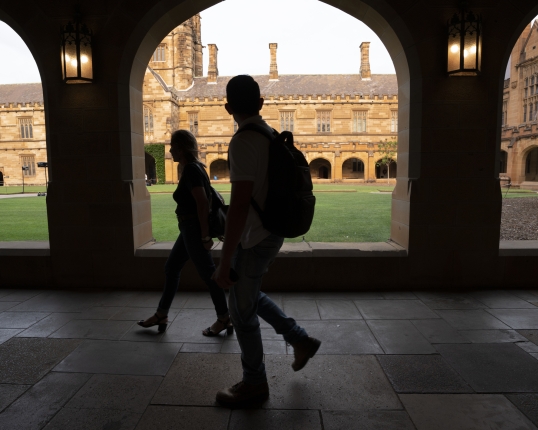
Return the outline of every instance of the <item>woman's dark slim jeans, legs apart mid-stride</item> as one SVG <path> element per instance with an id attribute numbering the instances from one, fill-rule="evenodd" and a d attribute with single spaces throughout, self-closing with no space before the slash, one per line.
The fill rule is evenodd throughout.
<path id="1" fill-rule="evenodd" d="M 157 311 L 161 314 L 168 314 L 172 305 L 172 300 L 179 286 L 181 270 L 189 258 L 194 263 L 198 274 L 209 288 L 211 300 L 215 305 L 218 316 L 228 315 L 228 305 L 226 304 L 226 294 L 215 281 L 211 279 L 215 272 L 215 263 L 211 257 L 211 251 L 207 251 L 200 238 L 200 224 L 197 219 L 182 221 L 179 226 L 179 237 L 174 244 L 172 251 L 164 266 L 166 281 L 164 291 L 159 302 Z"/>

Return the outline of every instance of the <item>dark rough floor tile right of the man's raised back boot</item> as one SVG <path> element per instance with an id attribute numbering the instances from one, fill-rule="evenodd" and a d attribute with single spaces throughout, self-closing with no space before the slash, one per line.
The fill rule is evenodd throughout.
<path id="1" fill-rule="evenodd" d="M 397 393 L 472 393 L 461 376 L 439 355 L 379 355 Z"/>

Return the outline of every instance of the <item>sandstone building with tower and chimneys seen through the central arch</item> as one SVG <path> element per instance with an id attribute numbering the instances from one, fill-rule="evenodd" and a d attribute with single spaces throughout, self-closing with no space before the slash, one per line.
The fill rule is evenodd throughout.
<path id="1" fill-rule="evenodd" d="M 376 165 L 377 144 L 395 141 L 398 130 L 396 75 L 372 74 L 369 42 L 360 46 L 355 75 L 279 75 L 277 44 L 269 44 L 267 75 L 253 76 L 265 98 L 263 118 L 276 130 L 294 133 L 296 146 L 320 182 L 373 182 L 396 177 L 396 162 Z M 208 45 L 207 76 L 202 71 L 200 17 L 184 22 L 159 44 L 144 79 L 144 142 L 169 143 L 177 128 L 198 138 L 213 180 L 227 180 L 227 145 L 237 124 L 224 109 L 226 84 L 219 76 L 215 44 Z M 357 52 L 357 54 L 359 54 Z M 178 165 L 165 148 L 166 182 L 177 182 Z M 146 173 L 153 177 L 151 158 Z"/>

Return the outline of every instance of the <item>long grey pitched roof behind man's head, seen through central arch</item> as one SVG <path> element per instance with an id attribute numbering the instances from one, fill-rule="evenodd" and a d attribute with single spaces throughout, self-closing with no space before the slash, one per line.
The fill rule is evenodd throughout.
<path id="1" fill-rule="evenodd" d="M 388 95 L 398 94 L 396 75 L 372 75 L 369 81 L 360 75 L 280 75 L 278 81 L 269 75 L 252 76 L 260 85 L 262 96 L 306 95 Z M 185 91 L 173 89 L 180 100 L 195 97 L 226 96 L 226 85 L 232 76 L 219 76 L 216 84 L 208 84 L 207 77 L 194 78 L 194 84 Z"/>

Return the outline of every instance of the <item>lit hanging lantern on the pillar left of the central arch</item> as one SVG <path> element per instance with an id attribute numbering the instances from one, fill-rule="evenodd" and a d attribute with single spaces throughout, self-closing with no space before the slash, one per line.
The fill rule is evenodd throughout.
<path id="1" fill-rule="evenodd" d="M 92 67 L 92 31 L 80 23 L 77 13 L 75 23 L 69 22 L 61 29 L 62 41 L 62 77 L 68 84 L 91 83 Z"/>

